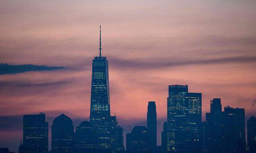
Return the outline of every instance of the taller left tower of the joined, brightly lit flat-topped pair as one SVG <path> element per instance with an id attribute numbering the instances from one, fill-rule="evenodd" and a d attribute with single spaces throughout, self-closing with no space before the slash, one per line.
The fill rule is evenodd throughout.
<path id="1" fill-rule="evenodd" d="M 167 98 L 167 151 L 185 148 L 184 129 L 186 127 L 186 93 L 188 85 L 169 85 Z"/>

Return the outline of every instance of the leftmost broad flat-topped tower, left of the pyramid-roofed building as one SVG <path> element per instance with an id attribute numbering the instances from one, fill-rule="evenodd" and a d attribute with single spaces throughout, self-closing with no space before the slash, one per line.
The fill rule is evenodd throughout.
<path id="1" fill-rule="evenodd" d="M 48 122 L 44 113 L 23 116 L 23 144 L 19 153 L 48 153 Z"/>

